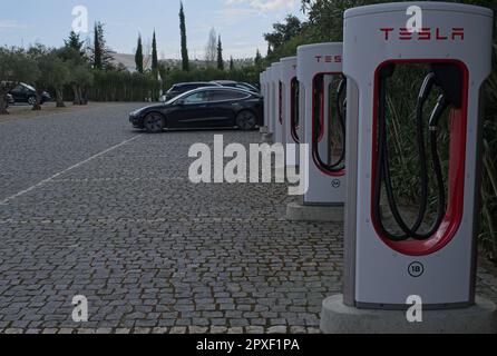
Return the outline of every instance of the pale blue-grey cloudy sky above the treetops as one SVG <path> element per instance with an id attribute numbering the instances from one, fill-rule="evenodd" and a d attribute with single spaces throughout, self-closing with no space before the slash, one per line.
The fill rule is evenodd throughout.
<path id="1" fill-rule="evenodd" d="M 0 46 L 40 42 L 50 47 L 64 43 L 75 19 L 72 9 L 88 9 L 89 28 L 98 20 L 106 26 L 107 44 L 133 53 L 138 32 L 149 43 L 155 28 L 162 58 L 179 58 L 179 0 L 23 0 L 1 1 Z M 188 50 L 202 59 L 211 28 L 222 36 L 226 58 L 265 53 L 263 33 L 293 13 L 304 18 L 300 0 L 184 0 Z M 91 33 L 82 34 L 91 38 Z"/>

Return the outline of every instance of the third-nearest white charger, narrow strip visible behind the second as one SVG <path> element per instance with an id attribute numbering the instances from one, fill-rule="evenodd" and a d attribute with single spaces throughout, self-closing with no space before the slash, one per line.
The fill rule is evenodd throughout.
<path id="1" fill-rule="evenodd" d="M 282 83 L 282 136 L 286 149 L 286 166 L 299 166 L 299 81 L 296 79 L 296 57 L 281 60 Z"/>

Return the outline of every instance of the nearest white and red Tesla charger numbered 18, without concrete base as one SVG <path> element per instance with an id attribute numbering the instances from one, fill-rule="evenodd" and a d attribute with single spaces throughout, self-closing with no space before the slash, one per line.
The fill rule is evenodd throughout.
<path id="1" fill-rule="evenodd" d="M 409 6 L 422 11 L 419 32 L 406 29 Z M 348 207 L 343 303 L 359 309 L 402 309 L 410 296 L 419 296 L 423 309 L 447 313 L 474 306 L 479 108 L 491 69 L 493 11 L 411 2 L 350 9 L 344 18 Z M 308 66 L 299 62 L 301 68 Z M 410 80 L 396 85 L 406 75 Z M 306 73 L 305 80 L 311 76 Z M 396 126 L 396 112 L 409 100 L 416 108 L 409 117 L 412 125 Z M 411 219 L 397 200 L 402 184 L 391 179 L 398 157 L 392 148 L 394 130 L 408 129 L 419 155 L 418 167 L 411 171 L 419 184 Z M 440 162 L 444 151 L 448 167 Z M 433 210 L 430 220 L 428 200 Z M 441 328 L 452 327 L 447 324 L 448 319 Z"/>

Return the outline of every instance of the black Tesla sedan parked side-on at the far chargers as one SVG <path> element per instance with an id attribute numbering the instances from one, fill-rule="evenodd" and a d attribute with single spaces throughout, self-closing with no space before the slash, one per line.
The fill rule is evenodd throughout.
<path id="1" fill-rule="evenodd" d="M 263 99 L 245 90 L 207 87 L 138 109 L 129 115 L 129 121 L 147 132 L 189 128 L 252 130 L 263 122 Z"/>

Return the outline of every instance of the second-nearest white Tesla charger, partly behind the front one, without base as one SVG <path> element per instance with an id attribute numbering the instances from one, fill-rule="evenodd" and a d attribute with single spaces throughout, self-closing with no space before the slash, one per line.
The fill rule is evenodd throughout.
<path id="1" fill-rule="evenodd" d="M 309 145 L 309 189 L 302 209 L 321 207 L 310 219 L 343 220 L 345 196 L 344 100 L 342 43 L 316 43 L 298 48 L 300 85 L 300 142 Z M 341 146 L 333 138 L 342 136 Z M 338 142 L 340 144 L 340 142 Z M 324 209 L 324 208 L 332 209 Z M 335 215 L 333 217 L 333 215 Z M 319 219 L 321 220 L 321 218 Z"/>

